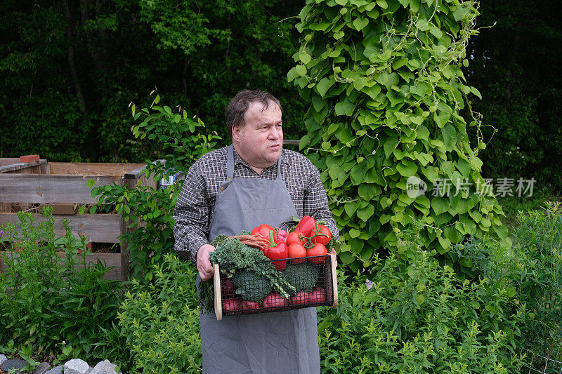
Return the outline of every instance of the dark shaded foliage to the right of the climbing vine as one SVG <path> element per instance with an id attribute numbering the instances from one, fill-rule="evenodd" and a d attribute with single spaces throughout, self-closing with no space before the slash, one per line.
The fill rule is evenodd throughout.
<path id="1" fill-rule="evenodd" d="M 480 1 L 483 28 L 468 46 L 478 87 L 487 178 L 531 178 L 562 189 L 562 13 L 554 0 Z M 490 27 L 492 26 L 493 27 Z M 495 133 L 497 129 L 497 133 Z M 471 131 L 473 138 L 476 133 Z"/>

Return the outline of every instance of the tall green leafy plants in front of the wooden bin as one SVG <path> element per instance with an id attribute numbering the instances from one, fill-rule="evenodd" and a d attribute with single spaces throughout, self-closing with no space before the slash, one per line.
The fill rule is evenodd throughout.
<path id="1" fill-rule="evenodd" d="M 12 353 L 106 359 L 102 342 L 117 321 L 122 282 L 104 279 L 108 268 L 100 260 L 86 262 L 86 243 L 66 220 L 65 236 L 55 238 L 51 210 L 41 223 L 32 213 L 18 217 L 0 238 L 7 266 L 0 273 L 0 344 Z"/>

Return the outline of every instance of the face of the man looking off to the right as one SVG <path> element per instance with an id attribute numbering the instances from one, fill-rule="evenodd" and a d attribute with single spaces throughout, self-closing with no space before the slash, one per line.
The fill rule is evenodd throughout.
<path id="1" fill-rule="evenodd" d="M 244 113 L 244 122 L 244 126 L 233 126 L 233 143 L 242 159 L 261 173 L 281 156 L 281 109 L 274 102 L 267 109 L 263 109 L 261 102 L 252 102 Z"/>

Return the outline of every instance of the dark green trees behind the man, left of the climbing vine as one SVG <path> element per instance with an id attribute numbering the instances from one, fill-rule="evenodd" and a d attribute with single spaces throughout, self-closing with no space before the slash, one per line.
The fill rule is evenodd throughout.
<path id="1" fill-rule="evenodd" d="M 68 7 L 68 16 L 66 13 Z M 241 89 L 283 103 L 287 138 L 303 135 L 303 104 L 285 79 L 299 1 L 3 1 L 0 157 L 51 161 L 162 158 L 135 140 L 129 102 L 155 88 L 227 142 L 223 110 Z M 71 63 L 72 62 L 72 63 Z M 6 136 L 6 133 L 9 136 Z M 154 154 L 153 152 L 157 152 Z"/>

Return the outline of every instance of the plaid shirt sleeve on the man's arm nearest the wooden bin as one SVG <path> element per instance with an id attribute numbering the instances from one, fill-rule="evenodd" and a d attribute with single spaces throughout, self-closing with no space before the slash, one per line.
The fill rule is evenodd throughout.
<path id="1" fill-rule="evenodd" d="M 207 188 L 197 163 L 190 168 L 174 208 L 174 250 L 197 265 L 197 250 L 209 243 L 210 206 Z"/>

